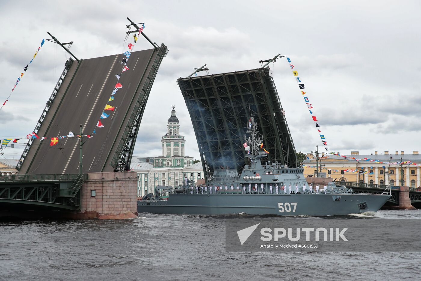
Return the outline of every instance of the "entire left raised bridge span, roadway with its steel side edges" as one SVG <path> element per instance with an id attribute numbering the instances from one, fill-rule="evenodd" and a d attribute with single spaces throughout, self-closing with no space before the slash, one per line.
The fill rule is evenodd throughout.
<path id="1" fill-rule="evenodd" d="M 167 54 L 164 44 L 131 53 L 119 80 L 123 88 L 115 94 L 114 111 L 96 124 L 104 111 L 121 73 L 123 54 L 92 59 L 69 59 L 34 132 L 59 137 L 69 131 L 94 137 L 83 144 L 82 173 L 122 171 L 130 165 L 136 135 L 160 63 Z M 96 134 L 93 134 L 96 130 Z M 78 138 L 63 138 L 55 146 L 50 141 L 30 139 L 18 163 L 19 174 L 79 173 Z"/>

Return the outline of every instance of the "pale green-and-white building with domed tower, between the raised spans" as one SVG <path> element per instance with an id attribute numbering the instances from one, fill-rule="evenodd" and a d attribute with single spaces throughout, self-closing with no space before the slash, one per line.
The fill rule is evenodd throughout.
<path id="1" fill-rule="evenodd" d="M 171 111 L 168 119 L 167 133 L 161 139 L 162 156 L 133 157 L 131 170 L 139 177 L 138 195 L 144 196 L 154 193 L 158 185 L 178 186 L 183 183 L 184 177 L 200 183 L 205 178 L 202 163 L 193 164 L 193 157 L 184 155 L 184 135 L 180 135 L 179 119 L 176 111 Z"/>

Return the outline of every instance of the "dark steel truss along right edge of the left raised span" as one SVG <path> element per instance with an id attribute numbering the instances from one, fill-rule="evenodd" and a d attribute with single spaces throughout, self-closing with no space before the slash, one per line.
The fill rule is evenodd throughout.
<path id="1" fill-rule="evenodd" d="M 114 157 L 110 163 L 116 172 L 124 171 L 127 167 L 130 167 L 131 158 L 133 156 L 133 148 L 136 143 L 136 137 L 139 132 L 140 122 L 149 98 L 149 93 L 151 91 L 152 84 L 154 83 L 155 76 L 157 75 L 158 68 L 167 53 L 167 46 L 162 43 L 144 86 L 141 89 L 139 99 L 136 101 L 130 119 L 125 126 L 123 136 L 120 139 L 120 143 L 117 146 Z"/>

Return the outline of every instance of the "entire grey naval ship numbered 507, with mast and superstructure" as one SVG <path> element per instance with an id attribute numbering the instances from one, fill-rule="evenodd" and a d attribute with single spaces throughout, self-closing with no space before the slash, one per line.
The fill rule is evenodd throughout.
<path id="1" fill-rule="evenodd" d="M 206 186 L 157 186 L 138 200 L 139 213 L 279 216 L 336 216 L 377 212 L 390 195 L 361 194 L 333 182 L 309 186 L 303 168 L 265 162 L 263 138 L 253 116 L 243 144 L 248 157 L 241 175 L 235 169 L 214 170 Z M 316 189 L 317 188 L 317 189 Z"/>

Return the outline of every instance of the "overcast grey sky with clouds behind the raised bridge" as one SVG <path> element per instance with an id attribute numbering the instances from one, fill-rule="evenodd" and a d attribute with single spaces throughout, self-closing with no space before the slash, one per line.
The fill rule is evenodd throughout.
<path id="1" fill-rule="evenodd" d="M 161 154 L 171 105 L 186 154 L 199 157 L 192 123 L 176 84 L 208 64 L 221 73 L 258 68 L 260 59 L 291 58 L 306 85 L 329 150 L 349 154 L 421 150 L 419 1 L 1 1 L 1 103 L 51 32 L 74 41 L 79 58 L 125 51 L 126 17 L 170 50 L 152 87 L 137 156 Z M 150 49 L 139 41 L 136 50 Z M 141 46 L 141 47 L 140 47 Z M 0 138 L 32 132 L 69 56 L 47 42 L 0 111 Z M 297 151 L 321 144 L 285 58 L 271 64 Z M 78 128 L 69 128 L 77 131 Z M 7 148 L 19 158 L 23 147 Z"/>

